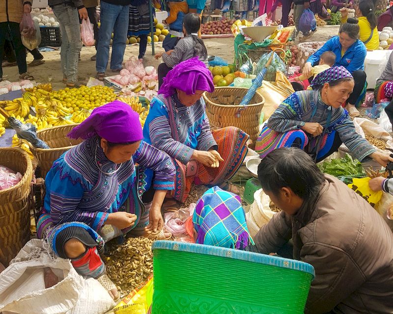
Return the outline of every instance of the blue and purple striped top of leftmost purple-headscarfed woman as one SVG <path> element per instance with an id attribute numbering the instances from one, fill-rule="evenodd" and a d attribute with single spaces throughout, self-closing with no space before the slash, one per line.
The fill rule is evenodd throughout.
<path id="1" fill-rule="evenodd" d="M 133 159 L 124 162 L 119 171 L 106 175 L 98 170 L 97 162 L 104 172 L 112 172 L 116 165 L 109 161 L 97 137 L 85 140 L 63 154 L 54 163 L 46 177 L 46 196 L 43 214 L 37 228 L 39 236 L 48 224 L 79 221 L 98 231 L 108 213 L 118 211 L 126 200 L 129 211 L 138 219 L 144 211 L 142 194 L 150 188 L 172 190 L 175 168 L 167 154 L 141 142 Z M 134 163 L 138 163 L 136 169 Z M 136 224 L 138 221 L 136 222 Z"/>

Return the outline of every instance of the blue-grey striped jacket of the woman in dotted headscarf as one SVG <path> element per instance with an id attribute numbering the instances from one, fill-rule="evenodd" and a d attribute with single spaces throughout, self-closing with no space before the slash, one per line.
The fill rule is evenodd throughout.
<path id="1" fill-rule="evenodd" d="M 315 109 L 315 105 L 317 108 Z M 313 111 L 315 112 L 313 114 Z M 282 133 L 289 131 L 299 131 L 301 122 L 318 122 L 323 128 L 326 128 L 328 116 L 328 105 L 324 104 L 320 91 L 300 91 L 293 93 L 276 109 L 269 118 L 267 128 L 276 131 L 277 136 L 281 137 Z M 356 133 L 355 126 L 348 116 L 348 112 L 342 107 L 333 108 L 331 121 L 326 134 L 330 135 L 337 131 L 339 138 L 345 146 L 353 153 L 354 157 L 362 161 L 365 157 L 375 152 L 375 149 L 361 135 Z M 272 139 L 265 140 L 266 130 L 263 130 L 258 137 L 255 146 L 257 152 L 264 154 L 267 147 L 272 145 Z M 269 133 L 269 136 L 272 134 Z M 290 134 L 289 134 L 290 135 Z M 309 140 L 311 135 L 307 134 Z M 283 138 L 287 138 L 284 136 Z M 274 140 L 275 143 L 280 140 Z"/>

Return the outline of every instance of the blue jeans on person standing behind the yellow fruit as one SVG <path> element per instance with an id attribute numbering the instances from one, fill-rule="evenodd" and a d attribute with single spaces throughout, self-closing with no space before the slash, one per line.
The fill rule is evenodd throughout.
<path id="1" fill-rule="evenodd" d="M 111 69 L 121 69 L 126 49 L 129 14 L 129 5 L 117 5 L 101 1 L 101 26 L 98 34 L 97 61 L 95 65 L 97 72 L 105 72 L 107 69 L 112 31 Z"/>

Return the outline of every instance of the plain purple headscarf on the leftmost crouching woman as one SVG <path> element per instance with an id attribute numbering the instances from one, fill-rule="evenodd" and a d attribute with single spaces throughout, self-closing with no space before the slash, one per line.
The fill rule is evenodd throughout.
<path id="1" fill-rule="evenodd" d="M 143 138 L 139 114 L 123 102 L 95 108 L 90 116 L 68 133 L 69 138 L 87 139 L 100 136 L 112 143 L 129 143 Z"/>

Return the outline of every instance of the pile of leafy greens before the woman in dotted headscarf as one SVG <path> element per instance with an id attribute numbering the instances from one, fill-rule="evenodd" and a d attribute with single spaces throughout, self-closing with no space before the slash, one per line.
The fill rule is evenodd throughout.
<path id="1" fill-rule="evenodd" d="M 354 161 L 352 157 L 345 154 L 345 157 L 332 159 L 332 161 L 324 161 L 318 165 L 319 169 L 329 175 L 335 177 L 353 176 L 364 173 L 362 164 L 359 161 Z"/>

